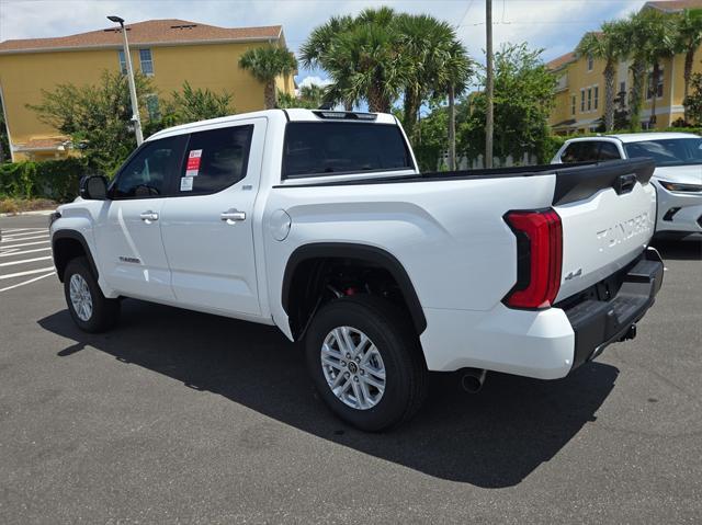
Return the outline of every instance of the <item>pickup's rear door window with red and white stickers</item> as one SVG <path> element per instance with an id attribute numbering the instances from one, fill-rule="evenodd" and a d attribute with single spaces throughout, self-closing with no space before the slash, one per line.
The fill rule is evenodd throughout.
<path id="1" fill-rule="evenodd" d="M 253 125 L 193 133 L 181 171 L 181 195 L 214 193 L 246 178 Z"/>

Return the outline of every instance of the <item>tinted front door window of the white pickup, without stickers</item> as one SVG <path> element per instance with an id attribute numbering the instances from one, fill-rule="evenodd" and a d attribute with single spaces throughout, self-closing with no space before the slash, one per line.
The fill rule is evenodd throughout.
<path id="1" fill-rule="evenodd" d="M 162 138 L 144 146 L 120 170 L 110 187 L 112 198 L 160 197 L 167 193 L 170 173 L 178 170 L 188 137 Z"/>

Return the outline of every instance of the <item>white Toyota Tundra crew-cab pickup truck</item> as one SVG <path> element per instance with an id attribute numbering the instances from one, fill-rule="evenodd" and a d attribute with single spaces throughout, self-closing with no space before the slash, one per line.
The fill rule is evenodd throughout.
<path id="1" fill-rule="evenodd" d="M 635 334 L 663 281 L 647 159 L 420 173 L 386 114 L 271 110 L 157 133 L 52 216 L 87 331 L 132 297 L 304 340 L 325 402 L 378 431 L 428 370 L 555 379 Z"/>

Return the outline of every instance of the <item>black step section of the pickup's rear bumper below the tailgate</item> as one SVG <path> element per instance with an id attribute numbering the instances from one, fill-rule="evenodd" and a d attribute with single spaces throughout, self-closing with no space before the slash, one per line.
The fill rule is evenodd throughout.
<path id="1" fill-rule="evenodd" d="M 664 265 L 660 255 L 648 248 L 621 275 L 616 276 L 619 290 L 609 300 L 597 297 L 585 299 L 564 311 L 575 333 L 573 369 L 593 359 L 607 345 L 635 334 L 635 323 L 654 304 L 663 284 Z M 600 292 L 610 292 L 598 284 Z M 602 289 L 604 287 L 604 289 Z"/>

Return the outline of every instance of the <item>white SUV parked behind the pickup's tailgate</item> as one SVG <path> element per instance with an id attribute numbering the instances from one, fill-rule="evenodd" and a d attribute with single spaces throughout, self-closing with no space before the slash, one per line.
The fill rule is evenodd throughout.
<path id="1" fill-rule="evenodd" d="M 632 133 L 566 140 L 553 163 L 649 157 L 656 162 L 656 233 L 702 233 L 702 138 L 690 133 Z"/>

